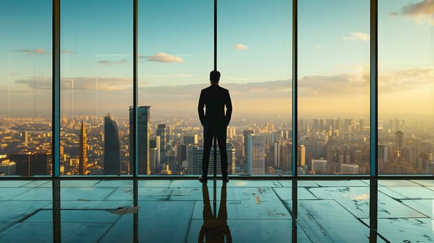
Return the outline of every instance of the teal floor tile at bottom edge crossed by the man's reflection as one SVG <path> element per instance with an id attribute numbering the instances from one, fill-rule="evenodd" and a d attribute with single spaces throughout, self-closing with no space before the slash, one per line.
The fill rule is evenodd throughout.
<path id="1" fill-rule="evenodd" d="M 187 242 L 204 242 L 200 240 L 202 224 L 202 220 L 191 221 Z M 291 242 L 292 220 L 229 219 L 227 226 L 229 232 L 225 233 L 231 235 L 232 242 Z M 303 231 L 299 231 L 297 236 L 300 237 L 300 242 L 310 242 Z M 210 242 L 223 242 L 223 240 Z"/>

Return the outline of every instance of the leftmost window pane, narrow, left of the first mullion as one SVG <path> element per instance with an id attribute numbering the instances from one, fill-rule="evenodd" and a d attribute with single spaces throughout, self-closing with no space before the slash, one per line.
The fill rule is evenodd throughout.
<path id="1" fill-rule="evenodd" d="M 0 176 L 51 174 L 51 1 L 0 4 Z"/>

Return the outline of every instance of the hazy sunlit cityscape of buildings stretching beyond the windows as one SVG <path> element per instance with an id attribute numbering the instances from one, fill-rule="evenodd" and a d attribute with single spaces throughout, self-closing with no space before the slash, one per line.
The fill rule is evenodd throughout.
<path id="1" fill-rule="evenodd" d="M 61 117 L 62 175 L 132 174 L 130 117 Z M 202 174 L 202 127 L 197 117 L 159 119 L 139 106 L 138 174 Z M 51 174 L 51 119 L 0 117 L 0 174 Z M 298 121 L 298 174 L 369 174 L 369 119 Z M 227 127 L 229 174 L 291 175 L 291 120 L 239 119 Z M 209 174 L 214 168 L 211 150 Z M 379 121 L 379 174 L 433 174 L 433 128 L 393 118 Z M 217 150 L 217 173 L 220 155 Z"/>

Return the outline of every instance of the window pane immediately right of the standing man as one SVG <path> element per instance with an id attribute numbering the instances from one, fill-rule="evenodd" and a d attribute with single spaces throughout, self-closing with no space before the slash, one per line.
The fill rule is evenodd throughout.
<path id="1" fill-rule="evenodd" d="M 292 1 L 218 1 L 218 69 L 234 106 L 227 139 L 236 174 L 291 174 L 291 23 Z"/>

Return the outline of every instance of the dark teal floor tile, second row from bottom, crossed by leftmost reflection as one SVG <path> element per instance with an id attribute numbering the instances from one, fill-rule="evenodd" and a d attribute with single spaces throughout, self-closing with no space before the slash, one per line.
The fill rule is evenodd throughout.
<path id="1" fill-rule="evenodd" d="M 114 223 L 120 217 L 110 210 L 61 210 L 62 223 Z M 40 210 L 24 223 L 51 223 L 53 210 Z"/>

